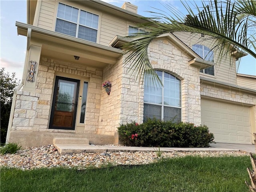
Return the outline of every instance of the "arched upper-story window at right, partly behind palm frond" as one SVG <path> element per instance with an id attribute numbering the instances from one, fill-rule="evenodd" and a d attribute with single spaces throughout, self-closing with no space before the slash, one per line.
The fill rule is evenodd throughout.
<path id="1" fill-rule="evenodd" d="M 206 47 L 204 45 L 196 44 L 196 45 L 192 46 L 192 50 L 194 52 L 196 52 L 196 54 L 198 54 L 203 59 L 205 59 L 207 61 L 214 62 L 213 51 L 211 51 L 208 47 Z M 214 66 L 202 69 L 202 70 L 200 70 L 200 72 L 209 74 L 209 75 L 214 75 Z"/>

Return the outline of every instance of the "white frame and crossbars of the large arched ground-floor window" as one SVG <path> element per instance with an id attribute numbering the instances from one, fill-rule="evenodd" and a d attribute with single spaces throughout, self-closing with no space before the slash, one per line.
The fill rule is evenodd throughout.
<path id="1" fill-rule="evenodd" d="M 156 70 L 156 71 L 160 71 L 160 70 Z M 162 72 L 162 84 L 164 85 L 164 72 L 166 72 L 166 71 L 160 71 L 160 72 Z M 166 73 L 170 74 L 169 72 L 166 72 Z M 170 74 L 170 75 L 172 75 L 172 74 Z M 174 76 L 174 75 L 172 75 L 172 76 Z M 180 81 L 180 107 L 164 104 L 164 86 L 162 87 L 162 104 L 150 103 L 150 102 L 145 102 L 145 101 L 143 101 L 143 103 L 161 106 L 161 120 L 164 120 L 164 107 L 178 108 L 178 109 L 180 109 L 180 122 L 181 122 L 182 121 L 182 94 L 181 94 L 182 84 L 181 84 L 181 80 L 179 78 L 177 78 L 176 76 L 174 76 L 174 77 Z"/>

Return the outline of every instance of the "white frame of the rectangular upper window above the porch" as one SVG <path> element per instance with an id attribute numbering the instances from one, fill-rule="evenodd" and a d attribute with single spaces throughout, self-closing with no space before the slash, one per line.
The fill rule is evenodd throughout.
<path id="1" fill-rule="evenodd" d="M 68 5 L 68 4 L 64 4 L 64 3 L 61 3 L 61 2 L 58 3 L 58 8 L 59 8 L 59 5 L 60 5 L 60 4 L 63 4 L 63 5 L 66 5 L 66 6 L 70 6 L 70 7 L 72 7 L 72 8 L 76 8 L 76 7 L 74 7 L 74 6 L 71 6 L 71 5 Z M 98 28 L 99 28 L 98 26 L 99 26 L 99 20 L 100 20 L 100 16 L 99 16 L 98 14 L 94 14 L 94 13 L 91 13 L 91 12 L 88 12 L 88 11 L 85 11 L 85 10 L 82 10 L 82 9 L 80 9 L 80 8 L 76 8 L 76 9 L 78 9 L 78 18 L 77 18 L 77 21 L 76 21 L 76 22 L 72 22 L 72 21 L 66 20 L 66 19 L 64 19 L 64 18 L 59 18 L 59 17 L 58 17 L 58 8 L 57 8 L 57 14 L 56 14 L 55 31 L 56 31 L 57 20 L 59 19 L 59 20 L 62 20 L 62 21 L 66 21 L 66 22 L 69 22 L 69 23 L 76 24 L 76 36 L 75 36 L 76 38 L 78 38 L 79 26 L 83 26 L 83 27 L 86 27 L 86 28 L 90 28 L 90 29 L 96 30 L 97 33 L 96 33 L 96 41 L 95 41 L 95 42 L 97 42 L 97 38 L 98 38 Z M 88 12 L 88 13 L 91 13 L 91 14 L 94 14 L 94 15 L 98 16 L 98 26 L 97 26 L 97 28 L 93 28 L 93 27 L 86 26 L 86 25 L 83 25 L 83 24 L 80 24 L 80 23 L 79 23 L 81 11 Z M 82 39 L 82 38 L 81 38 L 81 39 Z M 83 40 L 85 40 L 85 39 L 83 39 Z M 90 41 L 90 40 L 86 40 L 86 41 Z M 90 42 L 92 42 L 92 41 L 90 41 Z"/>

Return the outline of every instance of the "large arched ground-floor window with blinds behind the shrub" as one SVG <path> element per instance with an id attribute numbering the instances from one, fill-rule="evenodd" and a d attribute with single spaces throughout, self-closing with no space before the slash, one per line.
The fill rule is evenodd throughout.
<path id="1" fill-rule="evenodd" d="M 164 87 L 154 87 L 145 80 L 144 85 L 144 121 L 157 118 L 164 121 L 181 121 L 181 81 L 175 76 L 156 71 Z"/>

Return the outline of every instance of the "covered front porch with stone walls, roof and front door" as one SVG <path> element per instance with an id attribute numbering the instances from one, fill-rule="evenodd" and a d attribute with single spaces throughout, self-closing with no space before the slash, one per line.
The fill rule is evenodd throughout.
<path id="1" fill-rule="evenodd" d="M 16 26 L 28 44 L 7 141 L 40 146 L 62 137 L 113 144 L 120 123 L 122 51 L 28 24 Z M 102 88 L 106 80 L 112 82 L 110 96 Z M 64 102 L 61 94 L 66 94 Z M 114 120 L 108 118 L 114 115 Z"/>

